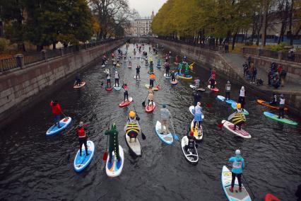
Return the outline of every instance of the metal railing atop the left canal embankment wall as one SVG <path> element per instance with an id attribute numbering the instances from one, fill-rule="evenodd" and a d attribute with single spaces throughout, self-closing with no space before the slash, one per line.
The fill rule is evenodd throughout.
<path id="1" fill-rule="evenodd" d="M 24 65 L 33 64 L 35 62 L 40 62 L 43 60 L 46 61 L 46 59 L 50 59 L 54 57 L 62 57 L 64 54 L 77 52 L 79 50 L 90 49 L 98 45 L 105 44 L 107 42 L 112 42 L 114 40 L 119 40 L 119 39 L 94 41 L 94 42 L 88 42 L 77 46 L 63 47 L 61 49 L 42 50 L 41 52 L 24 52 L 23 53 Z M 0 59 L 0 72 L 9 71 L 11 69 L 20 67 L 20 63 L 22 62 L 18 62 L 18 61 L 19 60 L 16 56 L 7 59 Z"/>

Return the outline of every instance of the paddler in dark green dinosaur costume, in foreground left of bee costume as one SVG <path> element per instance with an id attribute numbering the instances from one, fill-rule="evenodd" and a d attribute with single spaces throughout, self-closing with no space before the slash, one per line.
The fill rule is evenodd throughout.
<path id="1" fill-rule="evenodd" d="M 119 142 L 118 142 L 118 131 L 116 129 L 116 125 L 113 124 L 111 130 L 107 130 L 105 132 L 105 135 L 109 135 L 110 141 L 109 141 L 109 159 L 110 161 L 113 158 L 112 152 L 114 151 L 114 154 L 117 158 L 117 160 L 120 160 L 119 156 Z"/>

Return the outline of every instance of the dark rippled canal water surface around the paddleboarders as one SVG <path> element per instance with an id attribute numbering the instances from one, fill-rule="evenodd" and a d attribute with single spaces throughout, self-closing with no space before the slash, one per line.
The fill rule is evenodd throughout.
<path id="1" fill-rule="evenodd" d="M 124 50 L 125 46 L 121 49 Z M 131 44 L 131 57 L 132 50 Z M 105 74 L 99 63 L 82 72 L 87 81 L 85 87 L 73 90 L 73 80 L 68 81 L 59 91 L 45 97 L 1 130 L 0 200 L 227 200 L 220 182 L 221 171 L 223 165 L 230 166 L 228 159 L 237 148 L 241 149 L 246 161 L 244 177 L 255 200 L 262 200 L 266 193 L 273 193 L 281 200 L 296 199 L 295 190 L 301 183 L 300 127 L 283 125 L 264 117 L 263 111 L 269 109 L 258 105 L 256 94 L 246 88 L 246 108 L 250 115 L 245 129 L 252 134 L 252 139 L 235 137 L 216 126 L 232 110 L 216 100 L 217 94 L 206 91 L 202 93 L 202 101 L 211 103 L 212 108 L 204 108 L 204 137 L 198 148 L 199 163 L 192 166 L 184 159 L 180 142 L 167 146 L 155 134 L 160 107 L 153 114 L 144 112 L 141 102 L 147 95 L 144 86 L 148 83 L 147 69 L 141 64 L 142 81 L 136 84 L 134 67 L 139 60 L 132 61 L 133 69 L 122 67 L 119 73 L 121 83 L 124 81 L 129 85 L 129 96 L 134 98 L 129 108 L 135 105 L 147 137 L 144 141 L 140 137 L 141 158 L 133 159 L 124 141 L 127 109 L 118 107 L 123 93 L 107 92 L 102 88 L 100 82 L 105 81 Z M 160 84 L 160 91 L 155 92 L 155 102 L 158 106 L 167 104 L 174 117 L 175 130 L 182 138 L 193 118 L 188 110 L 193 103 L 189 88 L 191 81 L 180 81 L 177 86 L 171 86 L 162 76 L 163 69 L 154 67 L 154 70 Z M 195 67 L 194 71 L 202 81 L 208 80 L 209 72 L 205 69 Z M 222 89 L 219 94 L 224 96 L 226 80 L 217 74 L 217 81 Z M 240 86 L 232 85 L 235 100 L 239 89 Z M 45 132 L 52 125 L 49 102 L 55 99 L 73 122 L 64 132 L 46 137 Z M 106 144 L 104 131 L 110 115 L 112 122 L 117 123 L 119 144 L 125 154 L 124 169 L 118 178 L 107 177 L 102 161 Z M 95 143 L 93 161 L 82 173 L 73 171 L 79 120 L 88 123 L 88 138 Z M 243 183 L 246 185 L 244 180 Z"/>

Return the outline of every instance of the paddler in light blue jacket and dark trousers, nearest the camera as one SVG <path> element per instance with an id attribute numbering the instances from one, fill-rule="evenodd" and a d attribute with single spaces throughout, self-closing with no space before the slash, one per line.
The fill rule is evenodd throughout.
<path id="1" fill-rule="evenodd" d="M 244 169 L 244 159 L 240 155 L 240 149 L 235 151 L 235 156 L 232 156 L 229 159 L 229 162 L 232 162 L 232 182 L 230 192 L 233 193 L 235 177 L 237 177 L 239 191 L 242 192 L 242 170 Z"/>

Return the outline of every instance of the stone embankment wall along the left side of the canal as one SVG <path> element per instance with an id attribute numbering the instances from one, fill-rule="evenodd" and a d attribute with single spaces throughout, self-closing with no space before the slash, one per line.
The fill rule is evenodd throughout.
<path id="1" fill-rule="evenodd" d="M 25 106 L 40 101 L 39 97 L 54 91 L 76 71 L 88 67 L 102 54 L 124 44 L 125 40 L 115 40 L 102 45 L 80 50 L 62 57 L 48 59 L 26 65 L 22 69 L 8 71 L 0 75 L 0 126 L 5 125 L 22 112 Z"/>

